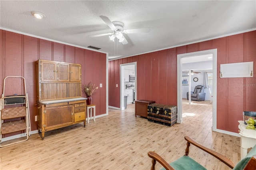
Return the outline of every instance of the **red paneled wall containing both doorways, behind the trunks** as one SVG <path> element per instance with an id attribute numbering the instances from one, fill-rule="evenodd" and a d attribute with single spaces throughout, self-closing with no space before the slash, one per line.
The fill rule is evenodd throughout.
<path id="1" fill-rule="evenodd" d="M 237 133 L 242 112 L 256 111 L 256 31 L 109 61 L 109 105 L 120 108 L 119 67 L 134 61 L 137 99 L 177 105 L 177 54 L 207 49 L 218 50 L 217 128 Z M 247 61 L 254 61 L 254 77 L 219 78 L 220 64 Z"/>

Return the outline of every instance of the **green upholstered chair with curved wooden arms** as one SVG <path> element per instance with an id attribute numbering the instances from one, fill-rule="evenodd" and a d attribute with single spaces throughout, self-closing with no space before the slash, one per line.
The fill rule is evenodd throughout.
<path id="1" fill-rule="evenodd" d="M 188 157 L 190 144 L 204 150 L 205 152 L 211 154 L 215 158 L 218 158 L 224 164 L 232 168 L 233 170 L 256 170 L 256 145 L 250 150 L 250 152 L 246 155 L 245 158 L 240 160 L 238 164 L 234 164 L 231 160 L 226 158 L 224 155 L 215 152 L 201 144 L 198 144 L 196 141 L 192 140 L 190 137 L 185 136 L 185 140 L 187 140 L 187 147 L 185 150 L 185 155 L 179 158 L 178 160 L 167 163 L 161 156 L 159 156 L 155 152 L 148 152 L 148 156 L 152 158 L 152 166 L 151 170 L 155 170 L 156 161 L 159 162 L 164 168 L 161 170 L 206 170 L 204 166 L 197 163 L 192 158 Z"/>

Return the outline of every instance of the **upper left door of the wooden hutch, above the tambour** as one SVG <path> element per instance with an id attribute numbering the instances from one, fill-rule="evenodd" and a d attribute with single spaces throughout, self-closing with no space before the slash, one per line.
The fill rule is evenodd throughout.
<path id="1" fill-rule="evenodd" d="M 41 61 L 41 81 L 57 81 L 57 63 L 56 62 Z"/>

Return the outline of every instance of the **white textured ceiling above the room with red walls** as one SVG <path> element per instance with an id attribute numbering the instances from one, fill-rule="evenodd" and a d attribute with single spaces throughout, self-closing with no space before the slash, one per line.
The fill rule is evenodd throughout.
<path id="1" fill-rule="evenodd" d="M 38 20 L 31 11 L 46 18 Z M 121 21 L 128 44 L 112 42 L 100 16 Z M 256 1 L 11 1 L 0 0 L 0 27 L 79 47 L 101 48 L 109 59 L 128 57 L 192 42 L 256 30 Z"/>

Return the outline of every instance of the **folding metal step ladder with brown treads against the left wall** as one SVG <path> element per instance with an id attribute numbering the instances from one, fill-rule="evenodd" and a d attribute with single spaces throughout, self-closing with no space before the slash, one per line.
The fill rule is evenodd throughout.
<path id="1" fill-rule="evenodd" d="M 6 79 L 22 79 L 25 94 L 12 96 L 5 95 Z M 20 85 L 22 87 L 22 85 Z M 2 145 L 2 135 L 12 132 L 25 131 L 26 139 L 15 140 L 8 144 Z M 26 92 L 26 81 L 21 76 L 8 76 L 4 78 L 3 94 L 0 99 L 0 147 L 9 146 L 28 140 L 31 135 L 30 113 L 28 105 L 28 93 Z"/>

